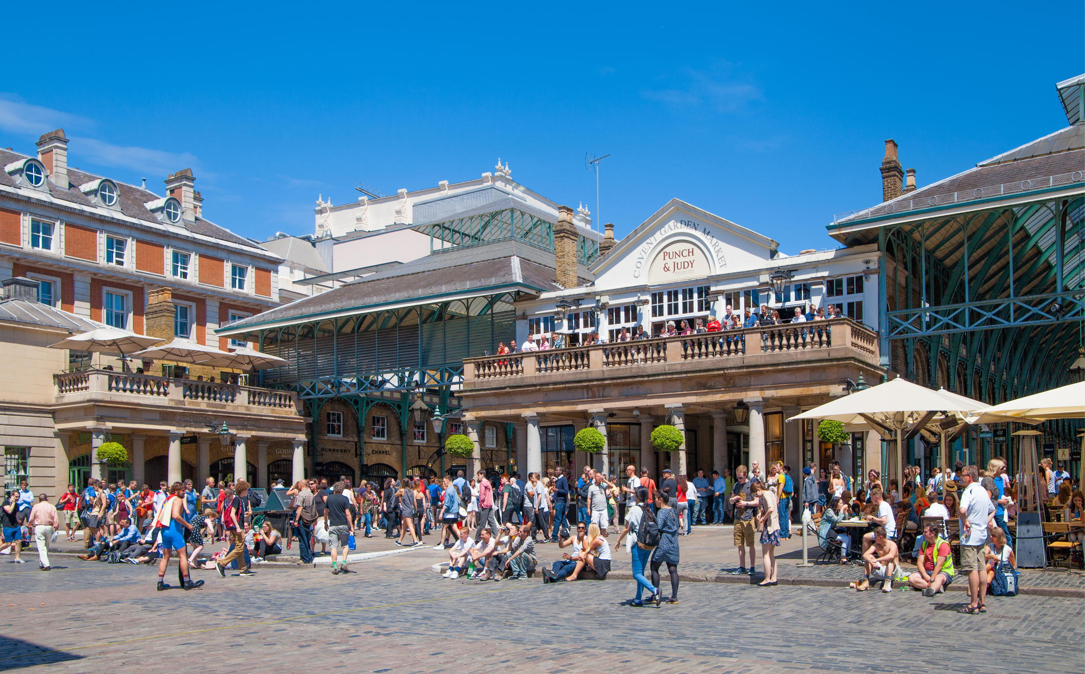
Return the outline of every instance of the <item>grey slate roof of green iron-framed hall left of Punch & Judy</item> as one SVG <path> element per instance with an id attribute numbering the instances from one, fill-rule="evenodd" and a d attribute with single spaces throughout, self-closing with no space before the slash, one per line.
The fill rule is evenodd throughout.
<path id="1" fill-rule="evenodd" d="M 583 267 L 577 269 L 586 283 L 590 273 Z M 561 289 L 554 282 L 553 252 L 513 238 L 435 250 L 333 290 L 234 321 L 218 333 L 326 314 L 362 313 L 394 302 L 427 303 L 441 296 L 507 286 L 540 293 Z"/>

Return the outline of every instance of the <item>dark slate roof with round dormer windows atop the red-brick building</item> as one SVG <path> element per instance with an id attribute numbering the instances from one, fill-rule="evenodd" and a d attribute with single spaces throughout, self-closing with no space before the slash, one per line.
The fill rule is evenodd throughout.
<path id="1" fill-rule="evenodd" d="M 0 150 L 0 166 L 7 166 L 12 161 L 26 159 L 30 155 L 25 155 L 23 153 L 14 152 L 11 150 Z M 79 185 L 84 185 L 87 184 L 88 182 L 92 182 L 94 180 L 99 180 L 102 178 L 107 178 L 108 180 L 113 180 L 113 182 L 117 183 L 117 189 L 120 193 L 119 199 L 117 199 L 117 204 L 119 206 L 120 212 L 128 216 L 129 218 L 143 220 L 159 228 L 164 226 L 162 221 L 158 220 L 158 218 L 156 218 L 144 206 L 144 204 L 148 202 L 153 202 L 155 199 L 163 198 L 162 195 L 155 194 L 149 190 L 144 190 L 143 187 L 137 185 L 130 185 L 128 183 L 114 180 L 106 176 L 95 176 L 94 173 L 80 171 L 79 169 L 72 168 L 71 166 L 68 167 L 68 183 L 71 184 L 69 189 L 64 190 L 62 187 L 59 187 L 55 184 L 53 184 L 52 180 L 47 181 L 46 185 L 49 187 L 49 193 L 55 199 L 60 199 L 63 202 L 71 202 L 73 204 L 78 204 L 80 206 L 86 206 L 90 208 L 95 208 L 99 207 L 99 205 L 90 196 L 80 192 Z M 10 176 L 7 171 L 2 170 L 0 170 L 0 185 L 8 185 L 10 187 L 29 190 L 28 187 L 22 187 L 21 185 L 18 185 L 18 183 L 12 176 Z M 238 234 L 234 234 L 230 230 L 219 226 L 214 222 L 212 222 L 210 220 L 206 220 L 201 217 L 196 217 L 195 220 L 182 219 L 179 224 L 183 225 L 186 230 L 192 232 L 193 234 L 202 234 L 203 236 L 209 236 L 212 238 L 227 241 L 232 244 L 246 246 L 248 248 L 259 249 L 259 246 L 255 242 L 250 241 L 244 236 L 239 236 Z"/>

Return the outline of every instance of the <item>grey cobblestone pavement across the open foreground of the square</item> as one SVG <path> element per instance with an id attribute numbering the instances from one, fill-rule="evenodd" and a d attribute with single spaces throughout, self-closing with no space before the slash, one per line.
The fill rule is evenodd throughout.
<path id="1" fill-rule="evenodd" d="M 992 598 L 988 613 L 961 615 L 959 595 L 688 583 L 677 606 L 638 609 L 623 605 L 634 592 L 628 581 L 448 581 L 419 568 L 432 561 L 382 557 L 350 575 L 286 565 L 257 567 L 247 579 L 200 571 L 204 587 L 163 593 L 150 567 L 0 565 L 0 670 L 245 672 L 267 669 L 270 656 L 289 671 L 311 648 L 302 657 L 322 670 L 395 674 L 870 674 L 945 671 L 947 662 L 1004 673 L 1035 671 L 1036 652 L 1054 654 L 1045 672 L 1082 671 L 1078 600 Z"/>

